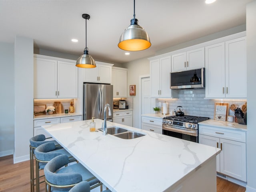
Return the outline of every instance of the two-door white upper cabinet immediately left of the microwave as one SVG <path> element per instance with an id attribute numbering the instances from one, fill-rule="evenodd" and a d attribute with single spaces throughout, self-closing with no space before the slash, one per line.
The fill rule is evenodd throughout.
<path id="1" fill-rule="evenodd" d="M 150 61 L 151 97 L 171 98 L 170 89 L 171 57 Z"/>

